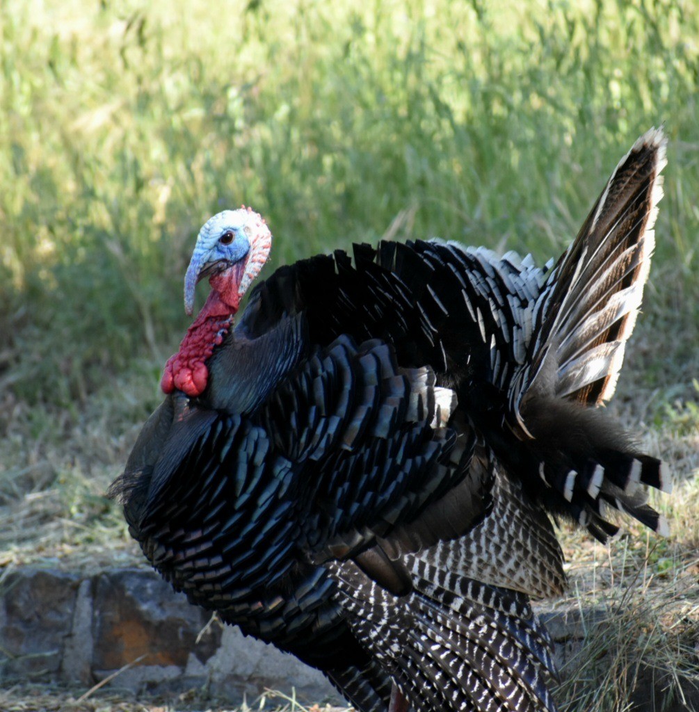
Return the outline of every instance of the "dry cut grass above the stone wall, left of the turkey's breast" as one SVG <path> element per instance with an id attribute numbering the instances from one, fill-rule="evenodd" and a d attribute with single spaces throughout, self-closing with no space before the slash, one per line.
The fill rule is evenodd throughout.
<path id="1" fill-rule="evenodd" d="M 0 564 L 70 559 L 81 567 L 133 557 L 120 509 L 104 494 L 157 398 L 157 367 L 146 363 L 90 394 L 78 414 L 6 395 Z"/>

